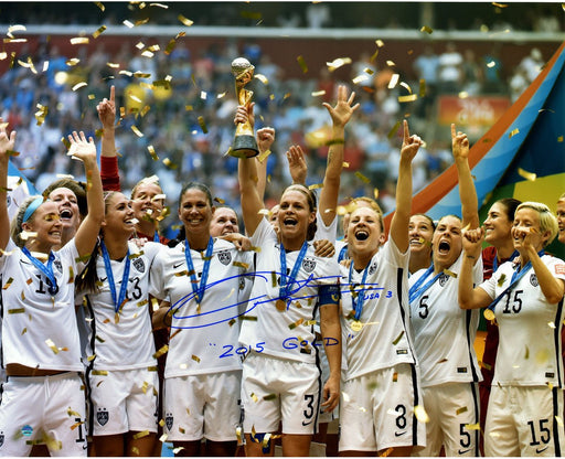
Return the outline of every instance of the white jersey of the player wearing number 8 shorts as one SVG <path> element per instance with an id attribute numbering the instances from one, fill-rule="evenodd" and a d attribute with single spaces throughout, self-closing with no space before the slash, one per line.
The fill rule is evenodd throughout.
<path id="1" fill-rule="evenodd" d="M 362 282 L 364 269 L 358 273 L 340 266 L 347 380 L 399 363 L 416 363 L 409 328 L 408 256 L 408 250 L 402 254 L 392 238 L 388 239 L 369 263 L 365 282 Z M 361 295 L 363 285 L 363 309 L 355 319 L 353 301 Z"/>

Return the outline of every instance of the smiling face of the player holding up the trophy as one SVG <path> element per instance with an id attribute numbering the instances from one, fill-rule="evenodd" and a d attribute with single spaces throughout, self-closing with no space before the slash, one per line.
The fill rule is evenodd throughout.
<path id="1" fill-rule="evenodd" d="M 305 193 L 289 189 L 280 198 L 277 218 L 281 237 L 305 241 L 308 225 L 316 220 L 316 212 L 310 210 Z"/>

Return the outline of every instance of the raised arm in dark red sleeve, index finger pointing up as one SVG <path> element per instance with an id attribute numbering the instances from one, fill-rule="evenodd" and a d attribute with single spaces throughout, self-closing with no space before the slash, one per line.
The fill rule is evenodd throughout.
<path id="1" fill-rule="evenodd" d="M 105 191 L 120 191 L 118 153 L 116 150 L 116 88 L 110 87 L 110 98 L 104 98 L 97 106 L 102 122 L 100 177 Z"/>

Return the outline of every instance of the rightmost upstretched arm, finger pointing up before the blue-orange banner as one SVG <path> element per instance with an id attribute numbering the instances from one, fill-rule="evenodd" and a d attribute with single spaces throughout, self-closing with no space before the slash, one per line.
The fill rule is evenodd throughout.
<path id="1" fill-rule="evenodd" d="M 451 125 L 451 146 L 459 179 L 462 226 L 476 228 L 479 226 L 479 203 L 469 168 L 469 139 L 463 132 L 456 134 L 455 125 Z"/>

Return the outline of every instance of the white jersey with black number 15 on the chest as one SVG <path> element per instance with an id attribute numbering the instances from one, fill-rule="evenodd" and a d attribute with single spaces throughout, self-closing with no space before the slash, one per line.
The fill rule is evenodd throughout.
<path id="1" fill-rule="evenodd" d="M 562 259 L 543 255 L 542 261 L 555 278 L 565 279 Z M 494 299 L 510 286 L 513 273 L 514 265 L 507 261 L 479 287 Z M 492 385 L 563 387 L 563 298 L 548 303 L 530 268 L 497 303 L 494 316 L 500 340 Z"/>

